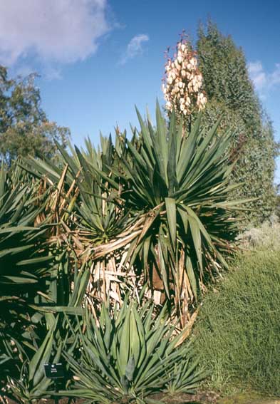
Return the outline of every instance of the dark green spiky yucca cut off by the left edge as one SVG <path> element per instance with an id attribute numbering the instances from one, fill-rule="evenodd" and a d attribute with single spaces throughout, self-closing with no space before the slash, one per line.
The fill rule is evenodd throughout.
<path id="1" fill-rule="evenodd" d="M 46 205 L 37 184 L 26 183 L 15 167 L 0 170 L 0 381 L 19 371 L 21 342 L 30 326 L 38 291 L 46 291 L 52 257 L 40 248 L 46 227 L 35 227 Z M 39 202 L 37 204 L 36 202 Z"/>

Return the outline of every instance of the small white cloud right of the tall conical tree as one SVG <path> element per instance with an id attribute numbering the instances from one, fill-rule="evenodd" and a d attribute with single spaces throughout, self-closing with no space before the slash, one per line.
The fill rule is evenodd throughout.
<path id="1" fill-rule="evenodd" d="M 266 73 L 260 61 L 251 62 L 248 64 L 248 71 L 256 90 L 260 92 L 280 84 L 280 63 L 275 64 L 274 71 Z"/>

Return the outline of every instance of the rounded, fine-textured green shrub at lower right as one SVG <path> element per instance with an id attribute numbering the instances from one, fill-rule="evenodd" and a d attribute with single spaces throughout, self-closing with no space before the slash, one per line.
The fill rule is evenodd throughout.
<path id="1" fill-rule="evenodd" d="M 249 252 L 204 300 L 195 350 L 208 387 L 280 395 L 280 252 Z"/>

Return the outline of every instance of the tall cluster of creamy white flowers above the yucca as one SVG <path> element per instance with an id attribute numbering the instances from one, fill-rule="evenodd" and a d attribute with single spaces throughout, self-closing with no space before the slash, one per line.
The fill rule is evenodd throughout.
<path id="1" fill-rule="evenodd" d="M 175 108 L 183 115 L 190 115 L 194 108 L 202 110 L 207 103 L 195 52 L 190 50 L 185 39 L 177 43 L 177 53 L 165 64 L 162 90 L 166 109 L 171 111 Z"/>

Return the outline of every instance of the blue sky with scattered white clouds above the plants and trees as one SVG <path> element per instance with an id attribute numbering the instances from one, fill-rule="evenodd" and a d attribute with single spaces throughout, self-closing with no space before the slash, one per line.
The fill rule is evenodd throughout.
<path id="1" fill-rule="evenodd" d="M 163 103 L 164 52 L 183 29 L 195 40 L 211 16 L 242 46 L 280 140 L 280 1 L 0 1 L 0 63 L 41 74 L 43 108 L 71 128 L 73 142 L 136 124 L 134 105 Z M 280 160 L 276 182 L 280 182 Z"/>

